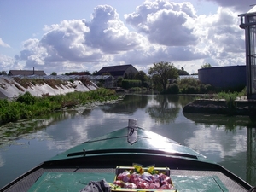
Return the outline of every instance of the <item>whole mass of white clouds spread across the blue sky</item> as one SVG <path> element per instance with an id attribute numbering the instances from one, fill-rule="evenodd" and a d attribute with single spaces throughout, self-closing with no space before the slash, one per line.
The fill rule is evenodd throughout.
<path id="1" fill-rule="evenodd" d="M 218 3 L 217 1 L 215 1 Z M 125 15 L 97 6 L 91 20 L 62 20 L 44 26 L 42 38 L 31 38 L 15 59 L 46 73 L 89 70 L 132 64 L 148 71 L 154 62 L 170 61 L 196 73 L 204 62 L 212 66 L 245 64 L 244 30 L 238 13 L 219 7 L 212 15 L 196 15 L 192 3 L 146 1 Z"/>

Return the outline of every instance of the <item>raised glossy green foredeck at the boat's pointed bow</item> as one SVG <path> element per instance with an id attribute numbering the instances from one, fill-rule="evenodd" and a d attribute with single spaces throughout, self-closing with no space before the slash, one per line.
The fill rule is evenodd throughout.
<path id="1" fill-rule="evenodd" d="M 88 142 L 82 143 L 74 148 L 71 148 L 64 153 L 58 154 L 53 157 L 51 160 L 65 160 L 83 157 L 85 153 L 88 151 L 96 151 L 102 150 L 109 153 L 111 150 L 115 150 L 113 155 L 119 153 L 125 154 L 123 152 L 125 149 L 139 149 L 140 153 L 149 153 L 148 150 L 151 150 L 150 153 L 158 154 L 158 152 L 167 152 L 170 154 L 188 154 L 191 156 L 195 156 L 199 161 L 211 162 L 205 156 L 195 152 L 191 148 L 187 148 L 179 143 L 169 139 L 167 137 L 160 136 L 152 131 L 146 131 L 142 128 L 137 128 L 137 142 L 129 143 L 127 141 L 127 127 L 120 129 L 118 131 L 113 131 L 107 135 L 102 137 L 96 137 Z M 152 152 L 154 151 L 154 152 Z M 136 152 L 137 154 L 138 152 Z M 132 154 L 132 152 L 127 152 L 127 154 Z M 86 154 L 86 156 L 90 155 L 101 155 L 101 154 Z M 103 155 L 103 154 L 102 154 Z M 180 158 L 189 158 L 189 157 L 180 157 Z M 195 160 L 195 159 L 191 159 Z M 214 163 L 215 164 L 215 163 Z"/>

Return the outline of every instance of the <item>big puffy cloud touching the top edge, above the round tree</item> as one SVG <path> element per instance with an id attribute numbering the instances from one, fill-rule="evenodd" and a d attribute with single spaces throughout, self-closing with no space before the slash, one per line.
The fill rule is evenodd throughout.
<path id="1" fill-rule="evenodd" d="M 158 0 L 143 3 L 136 12 L 125 15 L 125 20 L 138 32 L 145 33 L 151 43 L 186 46 L 197 42 L 189 25 L 189 20 L 195 17 L 191 3 Z"/>

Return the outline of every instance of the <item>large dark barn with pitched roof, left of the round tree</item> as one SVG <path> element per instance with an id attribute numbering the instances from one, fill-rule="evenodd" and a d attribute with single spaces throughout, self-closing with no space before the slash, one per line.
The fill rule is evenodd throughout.
<path id="1" fill-rule="evenodd" d="M 110 74 L 115 79 L 118 77 L 131 79 L 136 73 L 138 73 L 137 69 L 133 67 L 131 64 L 129 64 L 129 65 L 102 67 L 102 69 L 98 71 L 97 75 Z"/>

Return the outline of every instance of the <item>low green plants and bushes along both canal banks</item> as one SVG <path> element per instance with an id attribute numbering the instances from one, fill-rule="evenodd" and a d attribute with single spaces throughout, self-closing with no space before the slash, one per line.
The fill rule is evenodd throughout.
<path id="1" fill-rule="evenodd" d="M 135 81 L 128 83 L 126 86 L 133 91 L 148 90 L 146 87 L 137 87 Z M 152 87 L 149 87 L 152 88 Z M 154 88 L 154 87 L 153 87 Z M 204 98 L 225 99 L 229 108 L 234 108 L 235 100 L 238 96 L 246 96 L 246 90 L 229 92 L 214 89 L 210 84 L 201 84 L 198 79 L 186 78 L 178 79 L 167 85 L 166 91 L 162 94 L 203 94 Z M 117 100 L 119 96 L 114 90 L 99 88 L 88 92 L 73 92 L 66 95 L 43 97 L 32 96 L 29 92 L 18 96 L 15 101 L 0 99 L 0 125 L 9 122 L 15 122 L 20 119 L 32 119 L 42 117 L 45 114 L 54 113 L 55 111 L 65 108 L 72 108 L 79 105 L 85 105 L 90 102 L 106 102 Z"/>

